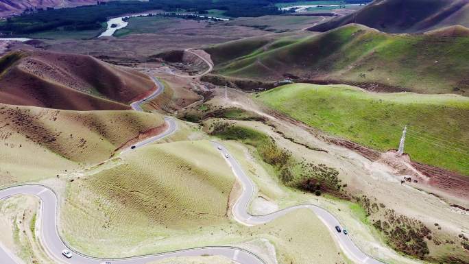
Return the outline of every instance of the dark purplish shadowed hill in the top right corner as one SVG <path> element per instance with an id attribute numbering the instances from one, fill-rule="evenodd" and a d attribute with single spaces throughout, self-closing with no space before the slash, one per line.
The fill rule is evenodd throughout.
<path id="1" fill-rule="evenodd" d="M 450 25 L 469 27 L 468 0 L 376 0 L 347 16 L 311 27 L 326 32 L 350 23 L 359 23 L 383 32 L 424 32 Z"/>

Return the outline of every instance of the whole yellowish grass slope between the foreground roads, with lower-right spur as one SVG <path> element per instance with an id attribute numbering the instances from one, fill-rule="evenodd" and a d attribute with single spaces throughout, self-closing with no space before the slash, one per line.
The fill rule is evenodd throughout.
<path id="1" fill-rule="evenodd" d="M 230 219 L 235 178 L 208 141 L 148 145 L 121 159 L 67 186 L 60 232 L 81 252 L 117 257 L 241 245 L 266 256 L 267 240 L 278 263 L 347 263 L 309 210 L 253 227 Z"/>

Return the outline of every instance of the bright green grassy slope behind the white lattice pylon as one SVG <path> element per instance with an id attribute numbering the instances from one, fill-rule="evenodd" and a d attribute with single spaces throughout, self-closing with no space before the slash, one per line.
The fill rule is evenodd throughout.
<path id="1" fill-rule="evenodd" d="M 469 176 L 469 99 L 459 95 L 369 93 L 346 85 L 289 84 L 258 100 L 330 134 Z"/>

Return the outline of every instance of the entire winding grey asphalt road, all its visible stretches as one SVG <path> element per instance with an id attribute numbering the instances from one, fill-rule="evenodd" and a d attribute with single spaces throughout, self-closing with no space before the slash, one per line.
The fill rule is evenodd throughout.
<path id="1" fill-rule="evenodd" d="M 161 84 L 155 77 L 152 77 L 154 80 L 157 89 L 151 95 L 141 99 L 139 101 L 133 102 L 132 108 L 134 110 L 142 111 L 141 104 L 145 101 L 153 99 L 154 97 L 163 93 L 164 86 Z M 141 147 L 158 139 L 162 139 L 169 134 L 172 134 L 177 130 L 176 121 L 170 117 L 165 117 L 165 121 L 168 124 L 168 128 L 162 134 L 158 136 L 154 136 L 149 139 L 145 139 L 145 141 L 141 141 L 140 143 L 136 144 L 136 147 Z M 220 150 L 221 154 L 226 156 L 226 161 L 228 165 L 232 168 L 235 176 L 239 182 L 241 182 L 243 191 L 241 196 L 238 198 L 237 202 L 235 202 L 232 213 L 234 218 L 239 221 L 241 224 L 245 224 L 248 226 L 254 226 L 258 224 L 265 224 L 269 221 L 276 219 L 282 215 L 285 215 L 291 211 L 294 211 L 299 208 L 309 208 L 311 209 L 317 217 L 319 217 L 324 224 L 329 228 L 330 232 L 333 233 L 333 237 L 339 243 L 341 249 L 346 253 L 346 255 L 357 263 L 364 263 L 364 264 L 382 264 L 380 261 L 376 261 L 372 259 L 372 257 L 366 255 L 365 253 L 361 252 L 359 248 L 350 240 L 347 235 L 344 235 L 343 232 L 337 233 L 335 231 L 335 226 L 341 226 L 339 221 L 333 217 L 328 211 L 320 208 L 319 206 L 315 206 L 313 204 L 300 204 L 297 206 L 292 206 L 289 208 L 282 209 L 275 213 L 271 213 L 268 215 L 250 215 L 248 213 L 248 205 L 250 204 L 250 200 L 252 199 L 254 193 L 254 184 L 250 180 L 248 176 L 243 172 L 243 169 L 235 160 L 232 155 L 228 153 L 228 150 L 221 144 L 216 143 L 213 141 L 214 147 Z M 128 152 L 130 149 L 124 149 L 123 152 Z M 121 153 L 123 153 L 121 152 Z M 86 254 L 82 254 L 73 250 L 67 242 L 65 242 L 59 235 L 58 226 L 57 226 L 57 219 L 58 219 L 58 198 L 56 193 L 49 187 L 45 187 L 39 184 L 23 184 L 16 187 L 10 187 L 7 189 L 0 190 L 0 200 L 8 199 L 8 197 L 12 197 L 14 195 L 34 195 L 40 199 L 40 211 L 38 213 L 38 228 L 37 231 L 40 237 L 40 241 L 43 244 L 45 250 L 54 260 L 58 261 L 58 263 L 67 263 L 67 264 L 99 264 L 103 261 L 110 261 L 112 264 L 145 264 L 149 263 L 150 261 L 158 261 L 160 259 L 167 259 L 170 257 L 175 256 L 201 256 L 201 255 L 221 255 L 226 256 L 228 259 L 231 259 L 235 263 L 241 264 L 265 264 L 265 262 L 260 259 L 258 256 L 249 252 L 247 250 L 243 250 L 241 248 L 235 248 L 230 246 L 213 246 L 213 247 L 202 247 L 202 248 L 190 248 L 186 250 L 177 250 L 172 252 L 164 252 L 160 254 L 151 254 L 145 256 L 134 256 L 131 258 L 123 258 L 123 259 L 99 259 L 93 256 L 87 256 Z M 62 250 L 68 248 L 73 252 L 73 257 L 71 259 L 67 259 L 65 256 L 62 256 Z M 0 247 L 0 263 L 1 264 L 20 264 L 21 262 L 16 260 L 16 257 L 13 256 L 10 251 L 7 249 Z"/>

